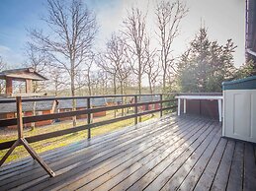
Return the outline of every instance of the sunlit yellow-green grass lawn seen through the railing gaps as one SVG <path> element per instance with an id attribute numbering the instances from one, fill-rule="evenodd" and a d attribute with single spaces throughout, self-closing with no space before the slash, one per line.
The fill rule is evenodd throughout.
<path id="1" fill-rule="evenodd" d="M 117 114 L 118 114 L 117 116 L 121 116 L 121 111 L 118 111 Z M 141 121 L 145 121 L 152 117 L 158 117 L 158 116 L 159 116 L 158 113 L 155 113 L 154 116 L 145 115 L 145 116 L 142 116 Z M 107 112 L 107 115 L 104 117 L 94 118 L 93 122 L 108 120 L 113 117 L 114 117 L 114 111 L 109 111 L 109 112 Z M 97 135 L 102 135 L 102 134 L 129 126 L 129 125 L 132 125 L 133 123 L 134 123 L 134 119 L 131 118 L 131 119 L 116 122 L 113 124 L 93 128 L 91 130 L 92 137 L 97 136 Z M 86 119 L 77 121 L 78 126 L 83 125 L 83 124 L 86 124 Z M 43 133 L 63 130 L 63 129 L 71 128 L 71 127 L 72 127 L 71 121 L 54 123 L 52 125 L 38 127 L 34 131 L 31 131 L 30 129 L 26 129 L 24 132 L 24 135 L 25 135 L 25 137 L 30 137 L 30 136 L 34 136 L 34 135 L 43 134 Z M 15 139 L 17 139 L 17 131 L 16 130 L 0 132 L 0 143 L 15 140 Z M 43 140 L 40 142 L 32 143 L 30 145 L 36 150 L 37 153 L 43 153 L 48 150 L 60 148 L 60 147 L 69 145 L 71 143 L 75 143 L 75 142 L 78 142 L 81 140 L 86 140 L 86 139 L 87 139 L 87 130 L 64 135 L 64 136 L 59 136 L 59 137 L 55 137 L 55 138 L 51 138 L 51 139 L 47 139 L 47 140 Z M 0 151 L 0 159 L 5 155 L 5 153 L 7 151 L 8 150 Z M 12 155 L 6 160 L 6 162 L 12 161 L 14 159 L 22 159 L 27 156 L 29 156 L 29 154 L 24 149 L 24 147 L 17 147 L 14 150 L 14 152 L 12 153 Z"/>

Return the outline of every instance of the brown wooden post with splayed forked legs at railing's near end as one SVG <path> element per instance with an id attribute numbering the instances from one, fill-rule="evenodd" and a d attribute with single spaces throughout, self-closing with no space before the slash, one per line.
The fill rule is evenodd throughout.
<path id="1" fill-rule="evenodd" d="M 33 150 L 33 148 L 29 145 L 27 140 L 23 135 L 23 117 L 22 117 L 22 97 L 16 97 L 16 105 L 17 105 L 17 128 L 18 128 L 18 140 L 13 144 L 11 149 L 5 154 L 5 156 L 0 160 L 0 166 L 5 162 L 5 160 L 12 154 L 14 149 L 23 145 L 25 149 L 29 152 L 33 159 L 36 159 L 43 169 L 51 176 L 55 176 L 55 173 L 47 166 L 47 164 L 41 159 L 41 157 Z"/>

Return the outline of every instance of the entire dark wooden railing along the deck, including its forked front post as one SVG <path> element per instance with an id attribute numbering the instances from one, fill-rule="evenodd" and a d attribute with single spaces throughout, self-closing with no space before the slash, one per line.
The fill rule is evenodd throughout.
<path id="1" fill-rule="evenodd" d="M 106 98 L 106 97 L 124 97 L 129 96 L 133 97 L 133 102 L 121 104 L 121 105 L 113 105 L 113 106 L 104 106 L 104 107 L 97 107 L 92 108 L 91 107 L 91 100 L 92 98 Z M 147 102 L 141 102 L 140 97 L 141 96 L 159 96 L 159 100 L 154 101 L 147 101 Z M 91 138 L 91 128 L 107 125 L 111 123 L 115 123 L 122 120 L 127 120 L 130 118 L 134 118 L 134 123 L 137 124 L 138 117 L 154 112 L 160 112 L 160 116 L 162 116 L 164 110 L 168 109 L 174 109 L 177 107 L 176 99 L 175 98 L 169 98 L 169 99 L 163 99 L 163 96 L 168 95 L 115 95 L 115 96 L 73 96 L 73 97 L 36 97 L 36 98 L 23 98 L 21 96 L 17 96 L 16 99 L 14 98 L 8 98 L 8 99 L 0 99 L 1 103 L 13 103 L 16 102 L 17 105 L 17 117 L 11 118 L 11 119 L 1 119 L 0 120 L 0 128 L 5 128 L 6 126 L 11 125 L 17 125 L 17 131 L 18 131 L 18 139 L 13 141 L 7 141 L 4 143 L 0 143 L 0 150 L 9 149 L 10 150 L 6 153 L 6 155 L 0 160 L 0 166 L 4 163 L 4 161 L 8 158 L 8 156 L 13 152 L 13 150 L 19 146 L 23 145 L 25 149 L 30 153 L 30 155 L 33 157 L 33 159 L 38 160 L 38 162 L 42 165 L 43 169 L 52 177 L 54 176 L 54 172 L 44 163 L 43 159 L 40 158 L 40 156 L 34 151 L 34 149 L 29 145 L 29 143 L 39 142 L 45 139 L 57 137 L 57 136 L 63 136 L 70 133 L 75 133 L 83 130 L 88 130 L 88 139 Z M 170 95 L 169 95 L 170 96 Z M 174 95 L 173 95 L 174 96 Z M 35 102 L 35 101 L 46 101 L 46 100 L 63 100 L 63 99 L 86 99 L 87 100 L 87 108 L 82 110 L 73 110 L 73 111 L 67 111 L 67 112 L 60 112 L 60 113 L 50 113 L 50 114 L 43 114 L 43 115 L 34 115 L 34 116 L 23 116 L 23 109 L 22 109 L 22 102 Z M 163 107 L 163 103 L 170 103 L 173 104 Z M 146 110 L 143 112 L 139 112 L 139 106 L 142 105 L 149 105 L 149 104 L 160 104 L 160 108 L 152 109 L 152 110 Z M 116 109 L 124 109 L 124 108 L 134 108 L 134 113 L 129 114 L 126 116 L 109 119 L 105 121 L 95 122 L 91 123 L 91 115 L 93 113 L 101 112 L 101 111 L 110 111 L 110 110 L 116 110 Z M 44 121 L 44 120 L 53 120 L 53 119 L 59 119 L 64 117 L 71 117 L 71 116 L 79 116 L 79 115 L 87 115 L 87 124 L 82 126 L 75 126 L 69 129 L 63 129 L 60 131 L 53 131 L 49 133 L 44 133 L 41 135 L 31 136 L 31 137 L 24 137 L 23 134 L 23 127 L 26 123 L 35 123 L 38 121 Z"/>

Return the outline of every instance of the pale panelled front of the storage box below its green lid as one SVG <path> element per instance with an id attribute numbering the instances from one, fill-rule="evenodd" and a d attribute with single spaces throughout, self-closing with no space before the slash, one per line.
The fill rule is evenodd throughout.
<path id="1" fill-rule="evenodd" d="M 223 135 L 256 143 L 256 90 L 224 91 Z"/>

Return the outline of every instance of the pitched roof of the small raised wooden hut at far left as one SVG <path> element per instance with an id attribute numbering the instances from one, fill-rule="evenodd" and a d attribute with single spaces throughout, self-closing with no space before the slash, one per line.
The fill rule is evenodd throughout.
<path id="1" fill-rule="evenodd" d="M 34 80 L 34 81 L 45 81 L 47 80 L 41 74 L 36 72 L 33 68 L 20 68 L 14 70 L 5 70 L 0 72 L 0 79 L 5 80 L 6 78 L 14 78 L 16 80 Z"/>

